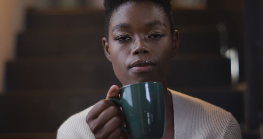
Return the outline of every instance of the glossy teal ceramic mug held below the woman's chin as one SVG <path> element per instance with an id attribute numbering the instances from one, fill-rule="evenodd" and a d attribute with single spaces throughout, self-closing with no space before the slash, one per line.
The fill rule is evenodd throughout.
<path id="1" fill-rule="evenodd" d="M 122 107 L 126 128 L 121 128 L 132 139 L 163 137 L 165 105 L 162 83 L 139 82 L 126 85 L 120 88 L 120 99 L 109 99 Z"/>

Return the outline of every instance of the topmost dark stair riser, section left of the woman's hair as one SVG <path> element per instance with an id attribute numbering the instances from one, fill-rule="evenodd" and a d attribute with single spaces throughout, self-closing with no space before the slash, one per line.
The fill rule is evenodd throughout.
<path id="1" fill-rule="evenodd" d="M 27 28 L 104 27 L 104 11 L 33 10 L 27 14 Z"/>

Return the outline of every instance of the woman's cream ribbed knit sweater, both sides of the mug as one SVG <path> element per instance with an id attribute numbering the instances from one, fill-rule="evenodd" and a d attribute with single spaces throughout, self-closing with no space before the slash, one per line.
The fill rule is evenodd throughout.
<path id="1" fill-rule="evenodd" d="M 174 138 L 242 138 L 239 124 L 231 113 L 198 98 L 173 90 L 169 91 L 173 99 Z M 57 139 L 95 139 L 85 121 L 92 107 L 68 118 L 59 127 Z"/>

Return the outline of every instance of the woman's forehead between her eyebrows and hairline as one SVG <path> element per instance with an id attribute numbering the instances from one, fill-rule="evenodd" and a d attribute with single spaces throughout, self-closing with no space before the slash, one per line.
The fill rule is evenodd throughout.
<path id="1" fill-rule="evenodd" d="M 164 10 L 152 2 L 126 2 L 120 5 L 113 12 L 110 22 L 109 29 L 119 23 L 148 23 L 154 20 L 161 21 L 169 25 L 168 18 L 164 13 Z"/>

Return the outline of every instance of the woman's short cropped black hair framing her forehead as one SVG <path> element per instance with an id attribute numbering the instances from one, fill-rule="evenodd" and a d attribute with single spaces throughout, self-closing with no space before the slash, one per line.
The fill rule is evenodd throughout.
<path id="1" fill-rule="evenodd" d="M 121 4 L 129 1 L 134 2 L 143 2 L 143 1 L 149 1 L 153 2 L 157 6 L 163 9 L 164 13 L 168 17 L 169 24 L 170 24 L 170 31 L 171 35 L 173 35 L 174 32 L 174 22 L 173 22 L 173 16 L 171 12 L 171 0 L 104 0 L 104 7 L 105 7 L 105 37 L 107 40 L 109 39 L 109 23 L 110 18 L 114 12 L 115 9 L 117 9 Z"/>

